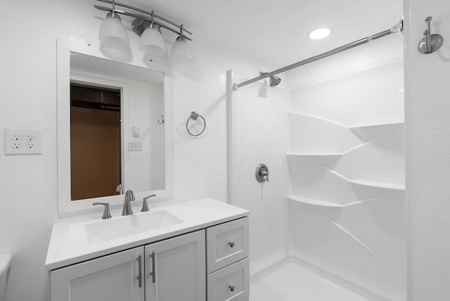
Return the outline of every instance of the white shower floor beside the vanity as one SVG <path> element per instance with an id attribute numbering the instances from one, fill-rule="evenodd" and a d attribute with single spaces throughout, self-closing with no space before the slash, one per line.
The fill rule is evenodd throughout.
<path id="1" fill-rule="evenodd" d="M 250 301 L 375 301 L 288 260 L 250 281 Z"/>

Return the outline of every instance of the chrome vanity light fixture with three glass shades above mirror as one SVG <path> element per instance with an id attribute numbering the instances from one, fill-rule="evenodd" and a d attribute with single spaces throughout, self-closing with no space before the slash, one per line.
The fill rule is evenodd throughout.
<path id="1" fill-rule="evenodd" d="M 109 11 L 105 21 L 101 26 L 100 31 L 100 40 L 102 43 L 108 42 L 105 37 L 110 37 L 111 40 L 120 41 L 120 45 L 124 45 L 124 34 L 122 30 L 122 23 L 120 22 L 120 18 L 118 14 L 127 15 L 131 18 L 134 18 L 134 21 L 131 23 L 131 27 L 141 40 L 139 41 L 139 49 L 145 52 L 149 56 L 162 56 L 166 52 L 165 41 L 162 39 L 161 28 L 174 32 L 178 35 L 174 42 L 174 46 L 172 46 L 171 51 L 171 61 L 172 64 L 181 64 L 181 63 L 191 63 L 193 61 L 193 53 L 189 48 L 188 41 L 192 41 L 191 35 L 192 32 L 186 30 L 183 25 L 178 25 L 167 18 L 163 18 L 160 15 L 156 15 L 154 11 L 148 12 L 144 11 L 141 8 L 136 8 L 134 6 L 129 6 L 127 4 L 122 4 L 119 2 L 115 2 L 115 0 L 96 0 L 99 2 L 104 2 L 108 4 L 113 4 L 113 8 L 108 8 L 104 6 L 94 5 L 95 8 L 100 9 L 101 11 Z M 122 6 L 126 8 L 127 11 L 120 11 L 115 9 L 115 6 Z M 119 20 L 120 30 L 115 30 L 113 27 L 108 27 L 108 34 L 105 34 L 105 30 L 103 30 L 103 25 L 106 23 L 106 20 L 117 16 L 117 20 Z M 108 20 L 108 23 L 111 23 Z M 117 22 L 114 23 L 117 25 Z M 124 29 L 124 28 L 123 28 Z M 125 29 L 124 29 L 125 30 Z M 125 34 L 126 34 L 125 30 Z M 106 43 L 108 44 L 108 43 Z M 127 35 L 127 43 L 128 46 L 128 35 Z"/>

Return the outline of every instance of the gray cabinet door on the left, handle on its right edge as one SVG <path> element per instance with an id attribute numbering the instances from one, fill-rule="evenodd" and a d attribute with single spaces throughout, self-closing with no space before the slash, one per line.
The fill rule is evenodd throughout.
<path id="1" fill-rule="evenodd" d="M 51 271 L 51 300 L 143 301 L 143 256 L 139 247 Z"/>

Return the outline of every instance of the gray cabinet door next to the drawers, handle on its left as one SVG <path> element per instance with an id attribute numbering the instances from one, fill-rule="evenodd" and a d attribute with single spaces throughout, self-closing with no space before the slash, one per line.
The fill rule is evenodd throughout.
<path id="1" fill-rule="evenodd" d="M 205 301 L 205 231 L 146 245 L 146 301 Z"/>

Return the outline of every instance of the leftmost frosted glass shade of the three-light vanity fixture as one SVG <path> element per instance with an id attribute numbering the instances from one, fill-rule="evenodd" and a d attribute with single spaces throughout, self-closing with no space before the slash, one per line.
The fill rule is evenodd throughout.
<path id="1" fill-rule="evenodd" d="M 108 13 L 105 20 L 101 24 L 98 39 L 101 43 L 113 48 L 127 48 L 129 46 L 129 38 L 127 29 L 122 24 L 119 16 Z"/>

